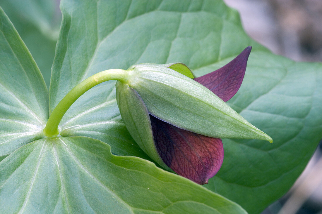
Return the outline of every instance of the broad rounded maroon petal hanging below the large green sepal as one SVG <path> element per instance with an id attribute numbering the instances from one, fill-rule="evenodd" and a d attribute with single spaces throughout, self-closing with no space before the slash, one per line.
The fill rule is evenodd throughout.
<path id="1" fill-rule="evenodd" d="M 223 163 L 223 143 L 177 128 L 150 115 L 156 149 L 162 160 L 177 174 L 206 184 Z"/>

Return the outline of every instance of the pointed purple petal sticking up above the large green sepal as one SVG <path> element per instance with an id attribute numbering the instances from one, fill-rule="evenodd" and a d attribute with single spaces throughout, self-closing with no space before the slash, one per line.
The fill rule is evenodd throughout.
<path id="1" fill-rule="evenodd" d="M 227 102 L 236 94 L 242 85 L 250 53 L 251 46 L 248 46 L 224 67 L 204 76 L 194 78 L 194 80 L 201 85 L 204 85 L 223 101 Z"/>

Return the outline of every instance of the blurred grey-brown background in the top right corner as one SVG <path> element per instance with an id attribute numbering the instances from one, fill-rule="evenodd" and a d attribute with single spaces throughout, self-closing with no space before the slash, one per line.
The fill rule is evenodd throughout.
<path id="1" fill-rule="evenodd" d="M 322 0 L 224 0 L 237 9 L 245 31 L 296 61 L 322 61 Z"/>

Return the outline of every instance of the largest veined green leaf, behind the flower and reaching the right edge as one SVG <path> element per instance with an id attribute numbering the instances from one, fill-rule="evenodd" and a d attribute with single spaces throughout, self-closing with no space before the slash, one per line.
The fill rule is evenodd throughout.
<path id="1" fill-rule="evenodd" d="M 304 169 L 322 137 L 321 64 L 294 63 L 271 54 L 245 34 L 238 13 L 222 0 L 63 0 L 61 9 L 50 111 L 72 87 L 102 70 L 144 62 L 182 62 L 201 76 L 252 45 L 245 80 L 229 104 L 274 143 L 224 140 L 223 167 L 206 187 L 258 213 L 282 196 Z M 69 129 L 61 128 L 65 135 L 109 143 L 117 154 L 137 155 L 138 147 L 131 146 L 131 140 L 125 140 L 120 149 L 121 142 L 97 135 L 117 133 L 114 137 L 121 139 L 126 135 L 113 101 L 113 87 L 111 81 L 87 92 L 63 119 L 69 121 Z M 86 111 L 88 108 L 93 111 Z M 98 117 L 94 116 L 96 110 L 101 112 L 105 128 L 76 130 L 77 120 L 70 119 L 90 121 Z M 119 119 L 118 127 L 110 122 L 111 112 Z"/>

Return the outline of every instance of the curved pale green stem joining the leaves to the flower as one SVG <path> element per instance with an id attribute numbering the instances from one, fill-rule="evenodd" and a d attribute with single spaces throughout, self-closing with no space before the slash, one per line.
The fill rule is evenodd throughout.
<path id="1" fill-rule="evenodd" d="M 109 69 L 101 71 L 93 76 L 88 77 L 80 84 L 76 85 L 71 91 L 62 98 L 55 109 L 52 111 L 43 133 L 47 137 L 55 137 L 59 134 L 58 125 L 62 117 L 71 105 L 89 89 L 108 80 L 119 80 L 126 82 L 128 79 L 128 71 L 122 69 Z"/>

